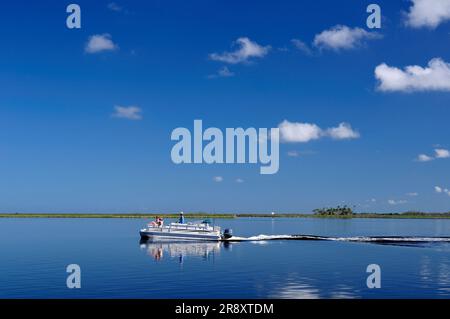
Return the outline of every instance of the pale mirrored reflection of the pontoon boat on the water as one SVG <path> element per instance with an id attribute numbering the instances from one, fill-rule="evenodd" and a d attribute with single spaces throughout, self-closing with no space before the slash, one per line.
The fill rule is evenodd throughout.
<path id="1" fill-rule="evenodd" d="M 228 248 L 229 245 L 209 241 L 148 239 L 141 240 L 140 247 L 142 250 L 146 250 L 147 254 L 156 261 L 160 261 L 163 258 L 178 258 L 179 263 L 183 263 L 186 257 L 201 257 L 204 260 L 214 260 L 214 255 L 218 254 L 222 247 Z"/>

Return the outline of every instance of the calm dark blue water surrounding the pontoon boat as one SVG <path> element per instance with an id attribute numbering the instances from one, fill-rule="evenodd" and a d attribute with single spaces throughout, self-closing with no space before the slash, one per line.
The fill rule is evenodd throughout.
<path id="1" fill-rule="evenodd" d="M 0 219 L 0 298 L 449 298 L 450 244 L 139 243 L 147 221 Z M 450 220 L 216 220 L 235 235 L 450 236 Z M 68 264 L 82 288 L 67 289 Z M 381 266 L 381 289 L 366 267 Z"/>

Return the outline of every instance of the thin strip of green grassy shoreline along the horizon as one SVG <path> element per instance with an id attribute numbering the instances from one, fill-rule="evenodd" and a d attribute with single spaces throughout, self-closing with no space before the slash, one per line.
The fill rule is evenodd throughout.
<path id="1" fill-rule="evenodd" d="M 46 213 L 3 213 L 1 218 L 134 218 L 134 219 L 152 219 L 156 216 L 163 216 L 165 218 L 177 218 L 178 214 L 46 214 Z M 186 218 L 334 218 L 334 219 L 351 219 L 351 218 L 393 218 L 393 219 L 450 219 L 450 213 L 356 213 L 351 216 L 338 215 L 317 215 L 317 214 L 209 214 L 209 213 L 186 213 Z"/>

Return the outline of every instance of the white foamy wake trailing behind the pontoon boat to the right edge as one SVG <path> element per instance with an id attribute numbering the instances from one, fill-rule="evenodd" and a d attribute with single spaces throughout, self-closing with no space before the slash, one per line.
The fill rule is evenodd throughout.
<path id="1" fill-rule="evenodd" d="M 321 240 L 342 242 L 369 242 L 379 244 L 418 244 L 418 243 L 450 243 L 450 237 L 416 237 L 416 236 L 356 236 L 328 237 L 315 235 L 258 235 L 251 237 L 231 237 L 225 241 L 269 241 L 269 240 Z"/>

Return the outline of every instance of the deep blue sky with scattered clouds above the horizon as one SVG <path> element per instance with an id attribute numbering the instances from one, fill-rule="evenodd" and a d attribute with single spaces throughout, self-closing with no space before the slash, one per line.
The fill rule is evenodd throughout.
<path id="1" fill-rule="evenodd" d="M 448 0 L 438 16 L 423 0 L 73 2 L 81 29 L 69 2 L 2 4 L 0 211 L 450 209 Z M 275 175 L 175 165 L 170 134 L 195 119 L 358 136 L 285 139 Z"/>

